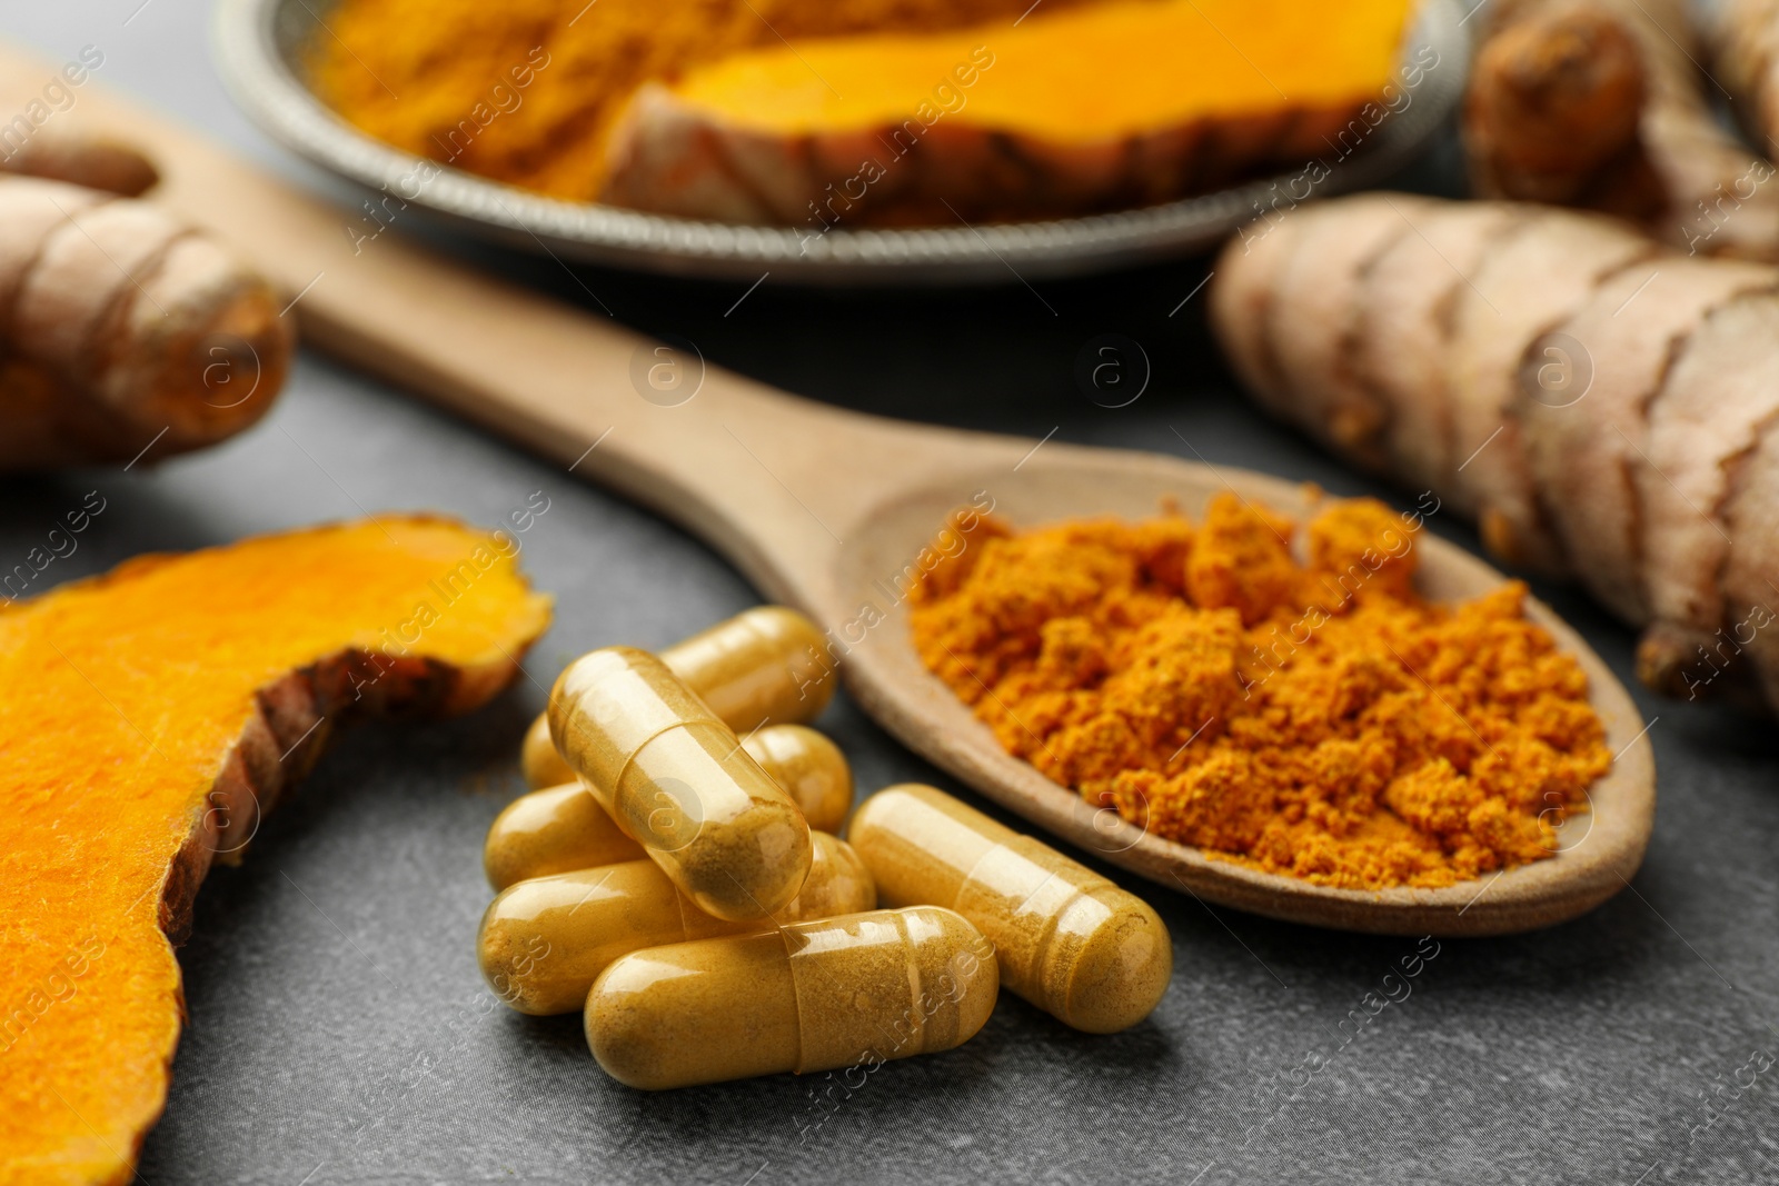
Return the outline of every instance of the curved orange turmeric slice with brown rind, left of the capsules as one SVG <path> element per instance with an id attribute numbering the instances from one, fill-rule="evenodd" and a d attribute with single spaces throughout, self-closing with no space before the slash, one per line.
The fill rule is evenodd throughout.
<path id="1" fill-rule="evenodd" d="M 463 713 L 550 599 L 511 535 L 379 517 L 144 557 L 0 608 L 0 1182 L 125 1182 L 167 1097 L 173 946 L 343 718 Z"/>

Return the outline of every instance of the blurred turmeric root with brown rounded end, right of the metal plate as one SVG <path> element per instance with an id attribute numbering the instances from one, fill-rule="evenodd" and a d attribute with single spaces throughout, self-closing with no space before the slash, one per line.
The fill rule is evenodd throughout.
<path id="1" fill-rule="evenodd" d="M 1683 0 L 1498 0 L 1464 101 L 1477 194 L 1779 260 L 1774 165 L 1719 124 L 1701 57 Z"/>

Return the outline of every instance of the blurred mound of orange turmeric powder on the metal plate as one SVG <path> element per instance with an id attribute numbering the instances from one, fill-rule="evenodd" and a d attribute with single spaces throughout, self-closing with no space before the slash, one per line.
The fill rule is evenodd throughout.
<path id="1" fill-rule="evenodd" d="M 1039 12 L 1092 0 L 1044 0 Z M 594 201 L 612 123 L 649 80 L 749 48 L 863 32 L 1010 27 L 1032 0 L 338 0 L 308 76 L 400 149 Z M 1034 18 L 1035 20 L 1035 18 Z"/>

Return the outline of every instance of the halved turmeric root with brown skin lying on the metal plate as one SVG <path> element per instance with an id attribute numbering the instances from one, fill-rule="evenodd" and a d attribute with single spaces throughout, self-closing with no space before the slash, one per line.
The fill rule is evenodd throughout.
<path id="1" fill-rule="evenodd" d="M 1112 0 L 751 50 L 637 92 L 603 201 L 811 229 L 1165 201 L 1363 140 L 1411 9 Z"/>

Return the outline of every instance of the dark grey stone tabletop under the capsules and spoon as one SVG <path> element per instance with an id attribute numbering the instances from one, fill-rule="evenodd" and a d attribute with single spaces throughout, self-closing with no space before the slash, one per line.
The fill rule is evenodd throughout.
<path id="1" fill-rule="evenodd" d="M 98 44 L 107 85 L 320 185 L 228 103 L 205 5 L 141 4 L 9 0 L 0 32 L 55 57 Z M 1450 146 L 1416 180 L 1448 176 Z M 548 261 L 493 263 L 580 297 Z M 1407 505 L 1251 409 L 1210 349 L 1203 297 L 1169 315 L 1203 272 L 1039 283 L 1039 295 L 1012 281 L 897 295 L 769 281 L 729 317 L 740 284 L 584 279 L 621 320 L 817 398 L 1187 453 L 1178 429 L 1215 462 Z M 1155 365 L 1149 391 L 1121 411 L 1071 379 L 1080 347 L 1108 331 Z M 1363 1026 L 1348 1017 L 1368 1015 L 1364 996 L 1413 941 L 1211 912 L 1114 873 L 1155 903 L 1176 946 L 1172 990 L 1124 1035 L 1073 1033 L 1009 996 L 962 1049 L 890 1063 L 850 1099 L 834 1090 L 818 1104 L 831 1085 L 792 1076 L 642 1095 L 598 1070 L 578 1019 L 518 1017 L 482 987 L 482 832 L 521 789 L 519 734 L 564 660 L 667 644 L 753 603 L 747 585 L 660 519 L 313 354 L 262 427 L 210 453 L 5 482 L 0 555 L 23 555 L 89 489 L 109 509 L 44 585 L 361 509 L 495 523 L 532 491 L 551 500 L 525 537 L 527 567 L 559 597 L 530 679 L 463 722 L 359 727 L 265 823 L 246 866 L 205 885 L 181 951 L 190 1024 L 142 1154 L 148 1182 L 1779 1177 L 1779 1067 L 1735 1086 L 1751 1056 L 1779 1056 L 1770 722 L 1638 693 L 1646 717 L 1660 715 L 1662 795 L 1631 891 L 1548 932 L 1441 944 L 1413 996 Z M 1624 628 L 1573 592 L 1541 594 L 1630 679 Z M 952 786 L 845 699 L 820 724 L 866 789 Z"/>

